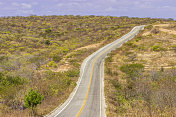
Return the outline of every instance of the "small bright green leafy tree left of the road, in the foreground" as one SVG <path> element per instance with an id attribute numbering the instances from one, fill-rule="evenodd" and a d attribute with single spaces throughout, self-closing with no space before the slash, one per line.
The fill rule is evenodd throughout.
<path id="1" fill-rule="evenodd" d="M 35 116 L 34 108 L 42 103 L 44 96 L 42 96 L 37 90 L 31 89 L 24 97 L 24 106 L 32 109 L 32 114 Z"/>

